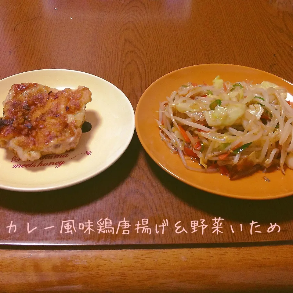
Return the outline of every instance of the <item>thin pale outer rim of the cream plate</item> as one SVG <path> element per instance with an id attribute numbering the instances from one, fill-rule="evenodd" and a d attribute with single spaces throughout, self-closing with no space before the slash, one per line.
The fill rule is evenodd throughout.
<path id="1" fill-rule="evenodd" d="M 119 92 L 121 92 L 123 98 L 126 99 L 126 103 L 128 104 L 129 106 L 129 110 L 132 109 L 131 111 L 131 132 L 129 132 L 129 138 L 127 139 L 127 141 L 125 142 L 125 145 L 124 147 L 122 148 L 121 152 L 118 154 L 118 156 L 116 156 L 113 161 L 108 164 L 107 166 L 105 166 L 104 168 L 102 168 L 101 170 L 97 171 L 97 172 L 93 172 L 92 174 L 86 176 L 86 177 L 83 177 L 79 180 L 74 180 L 72 182 L 68 182 L 66 184 L 59 184 L 59 185 L 56 185 L 56 186 L 45 186 L 45 187 L 34 187 L 34 188 L 31 188 L 31 187 L 13 187 L 13 186 L 7 186 L 7 185 L 3 185 L 3 184 L 0 184 L 0 189 L 3 189 L 3 190 L 10 190 L 10 191 L 18 191 L 18 192 L 42 192 L 42 191 L 51 191 L 51 190 L 60 190 L 60 189 L 63 189 L 63 188 L 67 188 L 67 187 L 70 187 L 70 186 L 74 186 L 74 185 L 77 185 L 79 183 L 82 183 L 82 182 L 85 182 L 99 174 L 101 174 L 102 172 L 104 172 L 105 170 L 107 170 L 108 168 L 110 168 L 110 166 L 112 166 L 116 161 L 118 161 L 118 159 L 125 153 L 125 151 L 127 150 L 129 144 L 131 143 L 132 141 L 132 138 L 133 138 L 133 135 L 134 135 L 134 131 L 135 131 L 135 110 L 130 102 L 130 100 L 128 99 L 128 97 L 125 95 L 124 92 L 122 92 L 121 89 L 119 89 L 116 85 L 112 84 L 110 81 L 107 81 L 106 79 L 104 78 L 101 78 L 99 76 L 96 76 L 94 74 L 90 74 L 90 73 L 87 73 L 87 72 L 83 72 L 83 71 L 78 71 L 78 70 L 73 70 L 73 69 L 64 69 L 64 68 L 43 68 L 43 69 L 36 69 L 36 70 L 30 70 L 30 71 L 24 71 L 24 72 L 20 72 L 20 73 L 16 73 L 16 74 L 13 74 L 13 75 L 10 75 L 10 76 L 7 76 L 5 78 L 2 78 L 0 80 L 0 83 L 1 81 L 3 80 L 6 80 L 8 78 L 12 78 L 14 76 L 17 76 L 17 75 L 21 75 L 21 74 L 25 74 L 25 73 L 30 73 L 30 72 L 40 72 L 40 71 L 65 71 L 65 72 L 75 72 L 75 73 L 79 73 L 79 74 L 85 74 L 85 75 L 89 75 L 91 77 L 94 77 L 94 78 L 98 78 L 100 80 L 102 80 L 103 82 L 106 82 L 107 84 L 109 84 L 110 86 L 113 86 L 114 88 L 116 88 Z"/>

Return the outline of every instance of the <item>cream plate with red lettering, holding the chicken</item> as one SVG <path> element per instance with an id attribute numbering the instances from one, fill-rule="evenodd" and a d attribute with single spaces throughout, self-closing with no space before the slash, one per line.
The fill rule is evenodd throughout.
<path id="1" fill-rule="evenodd" d="M 91 123 L 92 129 L 82 133 L 76 149 L 62 157 L 47 155 L 37 161 L 22 162 L 11 151 L 0 148 L 0 188 L 45 191 L 71 186 L 103 172 L 124 153 L 134 133 L 134 110 L 120 89 L 92 74 L 42 69 L 0 80 L 0 102 L 5 100 L 13 84 L 25 82 L 56 89 L 88 87 L 92 102 L 86 105 L 85 121 Z"/>

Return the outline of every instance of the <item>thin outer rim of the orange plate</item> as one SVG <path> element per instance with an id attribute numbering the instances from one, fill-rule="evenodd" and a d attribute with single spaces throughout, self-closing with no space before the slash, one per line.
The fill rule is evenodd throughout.
<path id="1" fill-rule="evenodd" d="M 186 66 L 186 67 L 182 67 L 182 68 L 179 68 L 179 69 L 176 69 L 176 70 L 173 70 L 171 72 L 168 72 L 167 74 L 164 74 L 163 76 L 161 76 L 160 78 L 156 79 L 154 82 L 152 82 L 148 87 L 147 89 L 143 92 L 143 94 L 141 95 L 141 97 L 139 98 L 139 101 L 136 105 L 136 109 L 135 109 L 135 129 L 136 129 L 136 133 L 137 133 L 137 136 L 139 138 L 139 141 L 140 143 L 142 144 L 144 150 L 147 152 L 147 154 L 150 156 L 150 158 L 159 166 L 161 167 L 165 172 L 167 172 L 168 174 L 170 174 L 171 176 L 173 176 L 174 178 L 180 180 L 181 182 L 189 185 L 189 186 L 192 186 L 196 189 L 199 189 L 199 190 L 203 190 L 203 191 L 206 191 L 208 193 L 211 193 L 211 194 L 216 194 L 216 195 L 221 195 L 221 196 L 224 196 L 224 197 L 230 197 L 230 198 L 236 198 L 236 199 L 242 199 L 242 200 L 258 200 L 258 201 L 261 201 L 261 200 L 273 200 L 273 199 L 278 199 L 278 198 L 283 198 L 283 197 L 288 197 L 288 196 L 291 196 L 293 195 L 293 190 L 292 192 L 287 192 L 287 193 L 284 193 L 284 194 L 281 194 L 281 195 L 278 195 L 278 196 L 267 196 L 267 197 L 256 197 L 256 196 L 247 196 L 247 197 L 242 197 L 241 195 L 233 195 L 233 194 L 229 194 L 229 193 L 225 193 L 225 192 L 222 192 L 222 191 L 211 191 L 209 190 L 208 188 L 206 187 L 199 187 L 199 185 L 195 185 L 194 183 L 180 177 L 180 176 L 177 176 L 176 174 L 174 174 L 173 172 L 171 172 L 170 170 L 168 170 L 168 168 L 164 167 L 163 165 L 161 165 L 161 163 L 159 161 L 156 161 L 154 159 L 154 157 L 152 156 L 151 154 L 151 151 L 150 149 L 146 146 L 146 144 L 144 143 L 143 141 L 143 138 L 142 138 L 142 135 L 139 131 L 139 128 L 137 127 L 138 125 L 138 114 L 137 113 L 137 109 L 139 109 L 139 106 L 140 106 L 140 103 L 141 103 L 141 100 L 143 98 L 143 96 L 145 96 L 147 94 L 147 91 L 150 89 L 150 87 L 152 85 L 154 85 L 154 83 L 157 83 L 158 81 L 160 81 L 161 79 L 167 77 L 168 75 L 171 75 L 175 72 L 178 72 L 178 71 L 183 71 L 184 69 L 186 68 L 192 68 L 192 67 L 200 67 L 200 66 L 232 66 L 232 67 L 240 67 L 240 68 L 246 68 L 246 69 L 253 69 L 253 70 L 256 70 L 256 71 L 259 71 L 261 73 L 265 73 L 265 74 L 269 74 L 269 75 L 272 75 L 273 77 L 277 77 L 277 78 L 280 78 L 282 79 L 283 81 L 289 83 L 290 85 L 293 86 L 293 83 L 291 83 L 290 81 L 287 81 L 286 79 L 284 78 L 281 78 L 277 75 L 274 75 L 272 73 L 269 73 L 269 72 L 266 72 L 266 71 L 263 71 L 263 70 L 260 70 L 260 69 L 257 69 L 257 68 L 253 68 L 253 67 L 248 67 L 248 66 L 242 66 L 242 65 L 237 65 L 237 64 L 226 64 L 226 63 L 206 63 L 206 64 L 196 64 L 196 65 L 191 65 L 191 66 Z"/>

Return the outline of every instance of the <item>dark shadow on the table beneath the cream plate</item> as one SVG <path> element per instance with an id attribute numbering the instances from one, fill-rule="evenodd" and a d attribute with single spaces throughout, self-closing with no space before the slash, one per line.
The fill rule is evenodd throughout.
<path id="1" fill-rule="evenodd" d="M 127 178 L 136 164 L 140 148 L 135 132 L 125 153 L 101 174 L 60 190 L 35 193 L 0 190 L 0 208 L 29 213 L 49 213 L 77 208 L 96 201 Z"/>

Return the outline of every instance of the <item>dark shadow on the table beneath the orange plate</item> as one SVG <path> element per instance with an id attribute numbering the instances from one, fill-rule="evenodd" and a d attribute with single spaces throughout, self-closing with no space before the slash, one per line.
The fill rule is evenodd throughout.
<path id="1" fill-rule="evenodd" d="M 146 153 L 147 162 L 161 183 L 190 206 L 224 219 L 247 222 L 281 222 L 293 219 L 293 196 L 274 200 L 242 200 L 191 187 L 162 170 Z"/>

